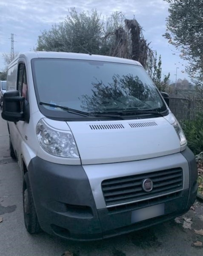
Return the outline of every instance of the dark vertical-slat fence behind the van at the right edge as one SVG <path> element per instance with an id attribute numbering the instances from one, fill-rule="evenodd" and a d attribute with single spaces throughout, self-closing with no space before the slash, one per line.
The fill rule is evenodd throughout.
<path id="1" fill-rule="evenodd" d="M 203 100 L 170 98 L 169 107 L 178 121 L 195 120 L 197 113 L 203 112 Z"/>

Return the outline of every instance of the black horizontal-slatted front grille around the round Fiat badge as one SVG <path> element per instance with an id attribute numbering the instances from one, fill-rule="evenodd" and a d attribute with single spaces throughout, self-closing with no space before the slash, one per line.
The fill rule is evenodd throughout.
<path id="1" fill-rule="evenodd" d="M 151 192 L 145 192 L 142 188 L 142 182 L 147 178 L 153 181 Z M 159 197 L 183 189 L 183 170 L 174 168 L 147 174 L 106 179 L 101 186 L 106 206 L 148 200 L 150 197 Z"/>

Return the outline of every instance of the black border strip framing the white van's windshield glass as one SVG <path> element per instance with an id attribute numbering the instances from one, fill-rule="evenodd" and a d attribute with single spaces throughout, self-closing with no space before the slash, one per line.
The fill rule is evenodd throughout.
<path id="1" fill-rule="evenodd" d="M 35 61 L 39 61 L 39 60 L 64 60 L 64 61 L 67 61 L 67 60 L 78 60 L 78 61 L 89 61 L 89 60 L 85 60 L 85 59 L 61 59 L 61 58 L 33 58 L 31 59 L 31 71 L 32 71 L 32 77 L 33 77 L 33 83 L 34 83 L 34 91 L 35 91 L 35 96 L 36 96 L 36 99 L 37 99 L 37 105 L 38 105 L 38 108 L 40 110 L 40 112 L 46 116 L 47 118 L 50 118 L 50 119 L 53 119 L 53 120 L 58 120 L 58 121 L 93 121 L 93 120 L 97 120 L 98 119 L 101 119 L 101 120 L 108 120 L 111 118 L 112 120 L 115 120 L 115 118 L 117 117 L 114 117 L 112 115 L 112 117 L 110 116 L 94 116 L 93 115 L 84 115 L 84 116 L 81 116 L 81 115 L 78 115 L 77 113 L 71 113 L 71 112 L 67 112 L 67 111 L 59 111 L 59 110 L 51 110 L 51 109 L 48 109 L 46 108 L 46 106 L 44 106 L 43 104 L 40 104 L 41 100 L 40 100 L 40 95 L 39 95 L 39 91 L 38 91 L 38 88 L 37 88 L 37 81 L 36 81 L 36 75 L 35 75 L 35 70 L 34 70 L 34 62 Z M 94 61 L 94 60 L 91 60 L 91 61 Z M 100 60 L 95 60 L 97 62 L 109 62 L 109 61 L 100 61 Z M 135 64 L 129 64 L 129 63 L 122 63 L 122 62 L 109 62 L 109 63 L 120 63 L 120 64 L 123 64 L 123 65 L 134 65 L 134 66 L 137 66 L 137 67 L 142 67 L 140 65 L 136 65 Z M 153 81 L 152 81 L 153 82 Z M 155 86 L 155 85 L 154 85 Z M 155 86 L 156 88 L 156 86 Z M 160 94 L 160 91 L 158 91 L 158 89 L 156 88 L 157 90 L 157 93 L 160 95 L 160 100 L 163 102 L 163 107 L 165 107 L 165 109 L 163 111 L 161 111 L 160 109 L 160 116 L 166 116 L 169 114 L 169 110 L 165 104 L 165 102 L 163 101 L 163 97 L 161 96 Z M 152 109 L 153 110 L 153 109 Z M 144 112 L 144 110 L 143 110 Z M 125 113 L 125 111 L 123 111 L 123 113 Z M 128 112 L 129 113 L 129 112 Z M 102 114 L 102 113 L 101 113 Z M 106 113 L 108 115 L 111 115 L 111 113 Z M 105 114 L 104 114 L 105 115 Z M 147 116 L 147 117 L 146 117 Z M 122 119 L 123 120 L 133 120 L 133 119 L 144 119 L 144 118 L 158 118 L 159 116 L 157 114 L 153 114 L 153 113 L 140 113 L 140 115 L 130 115 L 130 113 L 128 115 L 122 115 Z"/>

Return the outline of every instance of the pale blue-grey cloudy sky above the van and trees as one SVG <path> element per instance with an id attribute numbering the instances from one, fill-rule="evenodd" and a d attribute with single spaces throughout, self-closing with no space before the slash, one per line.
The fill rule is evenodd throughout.
<path id="1" fill-rule="evenodd" d="M 152 49 L 162 56 L 162 73 L 170 72 L 170 79 L 175 80 L 178 67 L 177 78 L 187 78 L 181 72 L 186 63 L 178 53 L 173 55 L 176 50 L 162 37 L 169 7 L 163 0 L 0 0 L 0 70 L 4 66 L 2 53 L 10 52 L 11 33 L 15 34 L 15 51 L 32 50 L 40 32 L 63 21 L 71 7 L 79 12 L 96 8 L 104 16 L 122 11 L 126 18 L 135 17 Z"/>

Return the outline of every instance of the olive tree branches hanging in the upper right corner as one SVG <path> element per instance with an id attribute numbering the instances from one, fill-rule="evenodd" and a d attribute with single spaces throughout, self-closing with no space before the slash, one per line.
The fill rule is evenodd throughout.
<path id="1" fill-rule="evenodd" d="M 189 65 L 186 72 L 196 85 L 203 85 L 203 0 L 164 0 L 169 3 L 166 33 Z"/>

